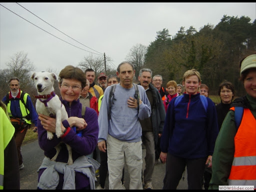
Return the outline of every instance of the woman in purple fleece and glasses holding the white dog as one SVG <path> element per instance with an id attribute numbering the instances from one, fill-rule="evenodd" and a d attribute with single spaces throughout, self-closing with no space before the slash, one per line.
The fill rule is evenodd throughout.
<path id="1" fill-rule="evenodd" d="M 77 67 L 66 66 L 60 74 L 60 100 L 68 112 L 68 120 L 62 122 L 62 136 L 54 134 L 47 139 L 47 131 L 55 133 L 56 119 L 38 114 L 38 142 L 46 156 L 38 169 L 38 189 L 95 189 L 94 166 L 86 155 L 91 154 L 98 141 L 98 115 L 86 107 L 82 118 L 82 104 L 79 96 L 86 85 L 85 73 Z M 72 127 L 76 127 L 76 130 Z M 81 135 L 79 135 L 79 134 Z M 68 165 L 68 150 L 65 144 L 56 159 L 55 146 L 64 142 L 72 148 L 73 164 Z"/>

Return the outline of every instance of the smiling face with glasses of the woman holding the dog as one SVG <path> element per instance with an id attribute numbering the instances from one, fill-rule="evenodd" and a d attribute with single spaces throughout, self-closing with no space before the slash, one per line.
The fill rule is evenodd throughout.
<path id="1" fill-rule="evenodd" d="M 81 89 L 73 89 L 72 86 L 81 87 L 82 84 L 80 81 L 76 79 L 62 79 L 62 85 L 59 86 L 60 88 L 60 95 L 63 100 L 68 101 L 70 104 L 72 101 L 77 100 L 81 94 Z M 68 85 L 68 88 L 65 88 L 63 85 Z"/>

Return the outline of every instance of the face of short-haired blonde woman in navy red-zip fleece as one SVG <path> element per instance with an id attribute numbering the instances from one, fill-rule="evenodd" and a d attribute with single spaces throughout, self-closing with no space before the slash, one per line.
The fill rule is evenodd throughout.
<path id="1" fill-rule="evenodd" d="M 189 76 L 183 81 L 183 86 L 186 89 L 186 94 L 195 95 L 197 94 L 198 87 L 201 85 L 196 75 Z"/>

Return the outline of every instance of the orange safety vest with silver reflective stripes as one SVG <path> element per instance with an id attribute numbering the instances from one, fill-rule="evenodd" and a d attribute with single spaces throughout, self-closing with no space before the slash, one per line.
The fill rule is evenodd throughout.
<path id="1" fill-rule="evenodd" d="M 234 107 L 230 108 L 234 110 Z M 234 138 L 235 153 L 228 184 L 254 186 L 256 189 L 256 120 L 250 109 L 244 109 Z"/>

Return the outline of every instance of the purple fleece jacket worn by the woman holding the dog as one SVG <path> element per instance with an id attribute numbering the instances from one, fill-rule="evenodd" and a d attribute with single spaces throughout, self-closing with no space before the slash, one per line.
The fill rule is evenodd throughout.
<path id="1" fill-rule="evenodd" d="M 64 104 L 66 111 L 68 112 L 68 117 L 76 116 L 82 118 L 82 104 L 79 102 L 79 100 L 73 101 L 71 107 L 69 106 L 69 103 L 65 100 L 62 100 L 61 97 L 60 100 L 62 101 L 62 104 Z M 51 159 L 56 154 L 56 150 L 54 147 L 61 141 L 71 146 L 73 161 L 75 161 L 79 156 L 91 154 L 98 143 L 99 126 L 98 115 L 96 111 L 92 108 L 86 107 L 84 120 L 86 120 L 86 123 L 88 125 L 84 130 L 82 130 L 82 137 L 78 136 L 73 129 L 68 128 L 70 127 L 68 121 L 64 120 L 62 124 L 64 125 L 64 127 L 68 128 L 66 133 L 61 138 L 57 138 L 57 136 L 54 134 L 54 138 L 52 140 L 47 139 L 47 132 L 41 125 L 40 120 L 38 120 L 38 142 L 40 148 L 44 150 L 44 155 Z M 65 144 L 62 144 L 62 149 L 56 161 L 68 162 L 68 151 Z M 44 169 L 41 169 L 39 171 L 38 181 L 43 172 Z M 59 176 L 60 180 L 56 189 L 62 189 L 63 186 L 63 174 L 59 174 Z M 76 172 L 75 180 L 76 189 L 85 189 L 89 186 L 88 177 L 81 173 Z"/>

